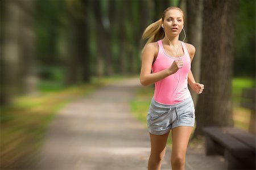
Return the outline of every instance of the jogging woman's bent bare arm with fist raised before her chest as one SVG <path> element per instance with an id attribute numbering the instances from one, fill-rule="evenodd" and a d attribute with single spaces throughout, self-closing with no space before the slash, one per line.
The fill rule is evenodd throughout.
<path id="1" fill-rule="evenodd" d="M 150 43 L 145 46 L 144 52 L 142 53 L 140 80 L 143 86 L 148 86 L 166 78 L 171 74 L 174 74 L 183 65 L 183 63 L 181 63 L 182 61 L 174 61 L 172 66 L 168 69 L 164 69 L 158 73 L 151 73 L 152 63 L 154 61 L 156 51 L 158 51 L 158 47 L 155 46 L 154 43 Z"/>

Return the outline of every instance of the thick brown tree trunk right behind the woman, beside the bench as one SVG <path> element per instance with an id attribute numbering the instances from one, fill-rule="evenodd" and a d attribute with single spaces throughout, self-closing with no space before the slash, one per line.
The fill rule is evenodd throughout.
<path id="1" fill-rule="evenodd" d="M 232 71 L 234 51 L 234 0 L 205 0 L 201 83 L 205 85 L 196 107 L 193 137 L 203 134 L 205 126 L 233 126 Z"/>

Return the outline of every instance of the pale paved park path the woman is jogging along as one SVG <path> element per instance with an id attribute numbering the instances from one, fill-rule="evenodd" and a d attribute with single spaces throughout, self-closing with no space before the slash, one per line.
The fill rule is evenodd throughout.
<path id="1" fill-rule="evenodd" d="M 61 109 L 49 126 L 36 169 L 147 169 L 150 138 L 129 105 L 139 86 L 138 78 L 125 79 Z M 162 169 L 170 169 L 169 160 L 170 150 Z M 186 169 L 224 169 L 224 165 L 216 157 L 188 150 Z"/>

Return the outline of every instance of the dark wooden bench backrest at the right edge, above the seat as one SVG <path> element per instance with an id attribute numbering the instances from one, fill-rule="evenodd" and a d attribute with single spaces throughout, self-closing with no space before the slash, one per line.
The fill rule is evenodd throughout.
<path id="1" fill-rule="evenodd" d="M 255 88 L 244 88 L 241 107 L 251 110 L 249 132 L 255 134 Z"/>

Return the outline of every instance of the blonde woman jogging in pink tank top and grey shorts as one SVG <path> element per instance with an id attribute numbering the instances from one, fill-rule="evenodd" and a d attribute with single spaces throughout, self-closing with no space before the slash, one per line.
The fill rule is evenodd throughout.
<path id="1" fill-rule="evenodd" d="M 150 24 L 142 36 L 148 41 L 142 53 L 141 84 L 155 83 L 147 115 L 151 141 L 148 169 L 160 169 L 170 130 L 172 169 L 184 169 L 189 136 L 195 124 L 195 107 L 188 84 L 197 94 L 204 90 L 204 84 L 196 83 L 191 72 L 195 47 L 179 41 L 183 25 L 183 11 L 168 7 L 162 19 Z"/>

